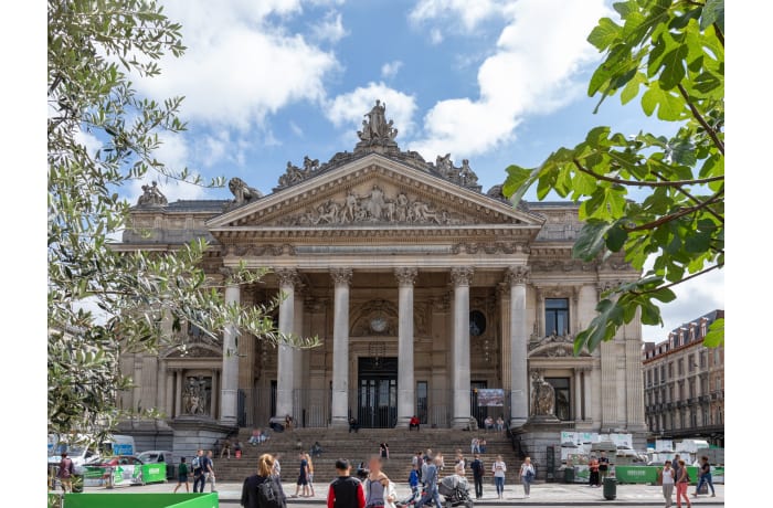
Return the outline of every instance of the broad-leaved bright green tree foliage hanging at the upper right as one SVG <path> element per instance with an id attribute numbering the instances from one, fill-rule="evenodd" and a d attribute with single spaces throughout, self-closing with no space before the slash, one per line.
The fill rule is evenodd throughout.
<path id="1" fill-rule="evenodd" d="M 603 18 L 587 38 L 604 53 L 587 94 L 600 97 L 596 110 L 618 93 L 622 104 L 638 99 L 676 134 L 625 136 L 596 127 L 537 168 L 508 167 L 505 184 L 516 203 L 534 183 L 540 200 L 554 191 L 581 202 L 585 224 L 573 256 L 624 253 L 643 271 L 602 294 L 575 351 L 613 339 L 637 311 L 643 324 L 663 325 L 659 305 L 676 298 L 671 287 L 724 265 L 724 3 L 628 0 L 614 9 L 620 23 Z M 631 199 L 631 189 L 644 199 Z M 719 319 L 705 343 L 723 341 Z"/>

